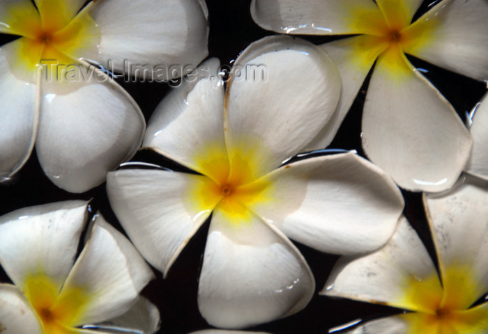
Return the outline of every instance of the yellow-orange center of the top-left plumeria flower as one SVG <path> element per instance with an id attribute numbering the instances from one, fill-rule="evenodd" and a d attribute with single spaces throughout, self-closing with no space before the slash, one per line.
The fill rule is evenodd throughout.
<path id="1" fill-rule="evenodd" d="M 12 17 L 11 22 L 3 22 L 12 33 L 21 35 L 17 54 L 8 57 L 14 74 L 25 76 L 35 71 L 36 65 L 77 64 L 84 49 L 96 48 L 100 42 L 100 29 L 87 10 L 71 13 L 69 1 L 44 0 L 39 10 L 29 2 L 3 5 Z M 32 7 L 32 8 L 31 8 Z M 51 66 L 47 68 L 53 70 Z"/>

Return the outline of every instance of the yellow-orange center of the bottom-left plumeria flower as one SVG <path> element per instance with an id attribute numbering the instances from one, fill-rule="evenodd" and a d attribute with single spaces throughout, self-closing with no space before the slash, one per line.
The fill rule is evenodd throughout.
<path id="1" fill-rule="evenodd" d="M 52 278 L 43 274 L 26 279 L 24 294 L 36 310 L 45 334 L 73 333 L 73 325 L 89 299 L 83 289 L 63 289 L 59 294 Z"/>

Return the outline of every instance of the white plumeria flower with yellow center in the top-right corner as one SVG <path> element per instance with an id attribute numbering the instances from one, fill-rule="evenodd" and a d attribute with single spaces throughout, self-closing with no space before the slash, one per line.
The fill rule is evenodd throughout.
<path id="1" fill-rule="evenodd" d="M 330 143 L 374 65 L 363 110 L 363 148 L 405 189 L 449 189 L 472 139 L 455 110 L 405 54 L 478 80 L 488 79 L 488 2 L 443 0 L 412 22 L 422 0 L 253 0 L 254 21 L 280 33 L 354 34 L 321 47 L 342 77 Z"/>

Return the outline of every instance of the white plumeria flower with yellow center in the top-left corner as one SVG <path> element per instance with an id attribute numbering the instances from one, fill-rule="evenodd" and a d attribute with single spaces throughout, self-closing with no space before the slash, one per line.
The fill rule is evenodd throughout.
<path id="1" fill-rule="evenodd" d="M 135 154 L 146 124 L 130 95 L 87 60 L 169 79 L 171 65 L 198 65 L 207 54 L 203 1 L 85 2 L 0 1 L 0 33 L 21 36 L 0 48 L 0 178 L 20 170 L 36 144 L 62 189 L 105 182 Z M 131 64 L 148 72 L 128 72 Z"/>

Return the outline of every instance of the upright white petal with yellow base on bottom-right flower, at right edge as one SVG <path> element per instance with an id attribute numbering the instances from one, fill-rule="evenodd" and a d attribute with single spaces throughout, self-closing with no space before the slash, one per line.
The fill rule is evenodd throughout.
<path id="1" fill-rule="evenodd" d="M 468 308 L 488 292 L 488 187 L 466 179 L 424 200 L 445 289 L 459 289 L 451 286 L 459 283 L 451 281 L 452 271 L 459 271 L 464 287 L 457 303 Z"/>

